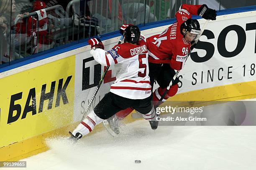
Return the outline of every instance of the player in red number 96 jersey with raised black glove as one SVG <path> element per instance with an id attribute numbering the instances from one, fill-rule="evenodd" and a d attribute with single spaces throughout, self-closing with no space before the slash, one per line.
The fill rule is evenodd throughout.
<path id="1" fill-rule="evenodd" d="M 216 10 L 207 5 L 182 4 L 175 14 L 177 22 L 164 30 L 161 34 L 147 38 L 149 77 L 153 89 L 154 81 L 159 88 L 153 93 L 155 104 L 161 99 L 166 87 L 175 75 L 175 70 L 181 70 L 188 57 L 191 45 L 200 34 L 199 22 L 192 19 L 192 15 L 200 15 L 202 18 L 216 20 Z M 164 96 L 162 102 L 174 96 L 178 90 L 178 79 Z"/>

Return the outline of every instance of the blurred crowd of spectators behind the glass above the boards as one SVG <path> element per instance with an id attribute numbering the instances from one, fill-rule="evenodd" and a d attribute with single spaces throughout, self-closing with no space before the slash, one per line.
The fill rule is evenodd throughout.
<path id="1" fill-rule="evenodd" d="M 175 18 L 182 3 L 223 10 L 256 0 L 1 0 L 0 67 L 114 34 L 124 23 L 140 27 Z"/>

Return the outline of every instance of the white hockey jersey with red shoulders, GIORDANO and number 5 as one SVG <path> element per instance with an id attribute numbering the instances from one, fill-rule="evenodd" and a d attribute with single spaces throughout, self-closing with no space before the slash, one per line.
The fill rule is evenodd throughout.
<path id="1" fill-rule="evenodd" d="M 151 95 L 148 51 L 144 40 L 138 45 L 115 45 L 109 51 L 92 49 L 91 54 L 101 65 L 115 65 L 116 80 L 110 92 L 129 99 L 144 99 Z"/>

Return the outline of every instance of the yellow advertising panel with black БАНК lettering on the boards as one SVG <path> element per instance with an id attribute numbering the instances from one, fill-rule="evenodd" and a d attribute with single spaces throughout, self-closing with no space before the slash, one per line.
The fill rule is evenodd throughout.
<path id="1" fill-rule="evenodd" d="M 74 66 L 73 55 L 1 78 L 1 147 L 72 122 Z"/>

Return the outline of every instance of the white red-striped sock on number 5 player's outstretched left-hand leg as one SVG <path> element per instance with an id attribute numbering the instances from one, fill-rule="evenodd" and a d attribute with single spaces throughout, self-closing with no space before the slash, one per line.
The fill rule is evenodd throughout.
<path id="1" fill-rule="evenodd" d="M 98 117 L 92 110 L 92 112 L 90 112 L 89 115 L 77 126 L 72 134 L 76 135 L 76 133 L 81 133 L 83 136 L 87 135 L 94 129 L 95 125 L 98 125 L 102 121 L 103 119 Z"/>

